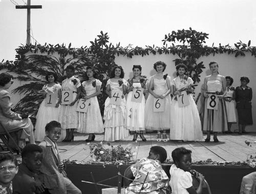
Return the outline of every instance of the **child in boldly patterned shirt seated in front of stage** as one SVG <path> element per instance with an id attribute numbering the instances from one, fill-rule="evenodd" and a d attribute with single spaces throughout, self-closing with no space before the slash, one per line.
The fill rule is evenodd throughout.
<path id="1" fill-rule="evenodd" d="M 147 158 L 142 158 L 131 165 L 131 172 L 135 179 L 126 188 L 125 193 L 167 193 L 169 179 L 161 166 L 166 158 L 167 153 L 163 147 L 151 147 Z"/>

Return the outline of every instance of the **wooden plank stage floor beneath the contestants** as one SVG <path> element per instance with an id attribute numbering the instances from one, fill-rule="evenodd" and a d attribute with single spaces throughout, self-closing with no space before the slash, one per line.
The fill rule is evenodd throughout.
<path id="1" fill-rule="evenodd" d="M 89 145 L 86 140 L 88 135 L 75 133 L 74 142 L 58 142 L 58 148 L 60 157 L 62 160 L 78 160 L 78 161 L 90 161 Z M 138 137 L 137 142 L 133 142 L 133 135 L 130 135 L 125 140 L 110 142 L 111 145 L 121 144 L 123 146 L 137 146 L 135 160 L 147 157 L 151 146 L 160 145 L 163 146 L 167 153 L 168 159 L 172 160 L 172 151 L 177 147 L 185 147 L 192 151 L 192 160 L 201 161 L 211 159 L 212 161 L 246 161 L 247 155 L 255 153 L 256 145 L 247 146 L 245 141 L 256 141 L 256 133 L 248 133 L 243 135 L 234 134 L 220 134 L 218 136 L 219 143 L 204 141 L 200 142 L 180 142 L 180 141 L 167 141 L 157 142 L 155 133 L 148 133 L 144 135 L 147 139 L 146 142 L 141 141 Z M 104 135 L 96 135 L 95 143 L 99 143 L 103 140 Z M 206 135 L 204 135 L 204 139 Z M 211 136 L 212 138 L 212 136 Z M 213 139 L 211 139 L 213 141 Z"/>

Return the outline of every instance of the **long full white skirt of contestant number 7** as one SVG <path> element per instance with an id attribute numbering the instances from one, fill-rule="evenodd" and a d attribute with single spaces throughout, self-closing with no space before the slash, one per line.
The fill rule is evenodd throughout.
<path id="1" fill-rule="evenodd" d="M 188 95 L 189 105 L 179 107 L 177 100 L 170 105 L 170 139 L 200 141 L 203 139 L 200 116 L 197 105 Z"/>

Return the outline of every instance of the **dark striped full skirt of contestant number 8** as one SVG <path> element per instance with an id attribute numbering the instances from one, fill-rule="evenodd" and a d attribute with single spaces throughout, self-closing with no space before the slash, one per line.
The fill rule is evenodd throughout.
<path id="1" fill-rule="evenodd" d="M 201 122 L 203 131 L 227 131 L 227 110 L 224 99 L 219 100 L 218 110 L 207 109 L 207 98 L 202 104 Z"/>

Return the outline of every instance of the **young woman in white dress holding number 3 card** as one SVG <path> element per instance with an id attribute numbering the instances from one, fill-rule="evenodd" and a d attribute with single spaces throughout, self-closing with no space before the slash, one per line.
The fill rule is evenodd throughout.
<path id="1" fill-rule="evenodd" d="M 104 125 L 97 99 L 100 94 L 101 81 L 96 79 L 96 72 L 92 67 L 86 68 L 86 75 L 86 80 L 82 82 L 82 98 L 90 99 L 90 104 L 87 113 L 80 113 L 77 132 L 90 134 L 86 139 L 86 142 L 90 142 L 94 141 L 95 133 L 104 133 Z"/>

